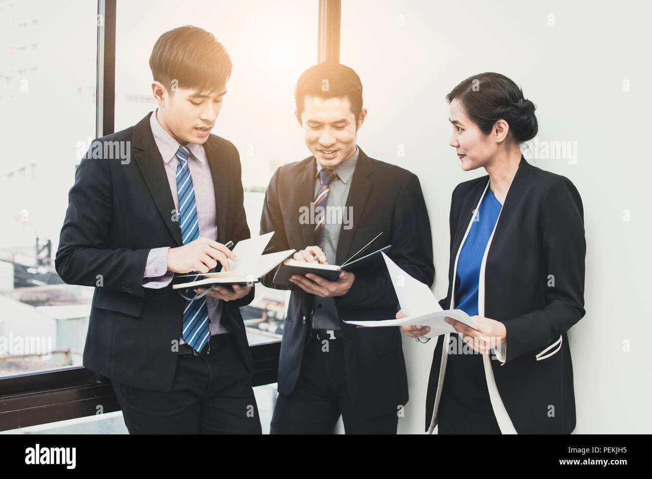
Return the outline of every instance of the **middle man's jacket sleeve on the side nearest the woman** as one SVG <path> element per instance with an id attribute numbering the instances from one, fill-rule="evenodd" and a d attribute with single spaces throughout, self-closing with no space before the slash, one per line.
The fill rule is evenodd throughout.
<path id="1" fill-rule="evenodd" d="M 413 173 L 400 186 L 391 233 L 393 246 L 389 255 L 394 263 L 430 287 L 435 277 L 430 218 L 419 178 Z M 379 272 L 355 274 L 351 289 L 346 295 L 336 297 L 335 302 L 337 306 L 365 308 L 389 306 L 398 299 L 383 264 Z"/>

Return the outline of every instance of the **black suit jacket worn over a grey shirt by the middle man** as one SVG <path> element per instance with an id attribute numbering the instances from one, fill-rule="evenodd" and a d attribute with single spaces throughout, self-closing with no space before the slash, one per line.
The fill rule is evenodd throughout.
<path id="1" fill-rule="evenodd" d="M 315 242 L 314 225 L 299 223 L 299 207 L 314 201 L 314 156 L 276 170 L 269 182 L 260 233 L 275 231 L 266 252 L 303 250 Z M 406 169 L 369 158 L 360 150 L 346 201 L 353 208 L 351 229 L 340 230 L 336 263 L 341 265 L 381 231 L 370 251 L 393 245 L 389 256 L 409 274 L 432 285 L 432 237 L 419 179 Z M 306 341 L 312 334 L 314 295 L 295 285 L 274 285 L 273 272 L 263 283 L 292 289 L 278 366 L 278 392 L 293 392 Z M 384 261 L 355 275 L 349 292 L 335 298 L 340 320 L 393 319 L 398 300 Z M 396 413 L 408 401 L 408 381 L 399 328 L 356 328 L 342 324 L 346 376 L 353 405 L 374 417 Z"/>

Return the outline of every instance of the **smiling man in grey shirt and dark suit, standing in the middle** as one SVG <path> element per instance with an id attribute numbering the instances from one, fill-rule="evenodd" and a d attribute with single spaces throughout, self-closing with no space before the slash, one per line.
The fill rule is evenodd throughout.
<path id="1" fill-rule="evenodd" d="M 275 231 L 267 252 L 341 265 L 378 233 L 368 252 L 389 256 L 432 285 L 432 238 L 419 179 L 374 160 L 356 145 L 364 123 L 362 84 L 348 66 L 321 63 L 297 82 L 295 115 L 312 156 L 280 167 L 265 194 L 260 232 Z M 396 433 L 408 401 L 398 328 L 356 328 L 349 320 L 392 319 L 398 300 L 384 262 L 335 281 L 292 276 L 278 366 L 272 433 Z"/>

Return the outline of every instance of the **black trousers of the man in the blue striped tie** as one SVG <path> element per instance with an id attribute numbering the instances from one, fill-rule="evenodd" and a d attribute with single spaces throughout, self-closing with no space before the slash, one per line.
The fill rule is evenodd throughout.
<path id="1" fill-rule="evenodd" d="M 179 354 L 172 390 L 113 381 L 130 434 L 260 434 L 258 405 L 233 334 L 211 338 L 211 353 Z"/>

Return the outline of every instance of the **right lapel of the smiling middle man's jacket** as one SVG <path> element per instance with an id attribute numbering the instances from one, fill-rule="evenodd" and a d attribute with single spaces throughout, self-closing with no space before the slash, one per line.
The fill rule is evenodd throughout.
<path id="1" fill-rule="evenodd" d="M 353 213 L 353 216 L 351 217 L 351 229 L 344 229 L 344 224 L 342 224 L 340 229 L 340 239 L 337 242 L 337 252 L 335 254 L 335 263 L 337 265 L 341 265 L 349 257 L 351 243 L 353 242 L 355 231 L 360 224 L 360 218 L 362 218 L 364 206 L 366 205 L 367 197 L 371 191 L 372 181 L 368 179 L 368 176 L 371 175 L 373 171 L 371 160 L 366 156 L 366 154 L 364 154 L 362 149 L 360 149 L 358 162 L 355 165 L 355 171 L 353 171 L 353 178 L 351 179 L 349 196 L 346 199 L 346 208 L 351 208 Z M 368 242 L 369 240 L 371 240 L 371 238 L 363 238 L 363 244 L 361 244 L 361 246 L 365 244 L 364 242 Z"/>

